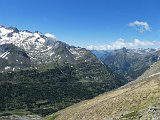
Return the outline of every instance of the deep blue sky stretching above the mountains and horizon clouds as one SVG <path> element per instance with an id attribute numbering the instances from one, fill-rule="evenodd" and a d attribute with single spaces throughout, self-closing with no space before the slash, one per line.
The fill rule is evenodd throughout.
<path id="1" fill-rule="evenodd" d="M 160 0 L 0 0 L 0 6 L 0 24 L 52 33 L 75 46 L 160 40 Z"/>

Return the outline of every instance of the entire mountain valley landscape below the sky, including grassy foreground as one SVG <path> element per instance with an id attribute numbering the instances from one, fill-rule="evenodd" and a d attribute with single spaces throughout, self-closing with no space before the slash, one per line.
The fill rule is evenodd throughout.
<path id="1" fill-rule="evenodd" d="M 157 118 L 159 58 L 159 49 L 89 51 L 1 26 L 0 119 Z"/>

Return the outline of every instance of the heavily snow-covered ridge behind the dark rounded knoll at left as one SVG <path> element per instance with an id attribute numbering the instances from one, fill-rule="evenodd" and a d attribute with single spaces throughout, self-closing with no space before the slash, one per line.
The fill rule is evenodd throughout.
<path id="1" fill-rule="evenodd" d="M 0 26 L 0 45 L 14 44 L 24 49 L 31 59 L 37 55 L 52 49 L 56 42 L 56 37 L 52 34 L 43 35 L 41 32 L 30 32 L 28 30 L 19 31 L 15 27 Z"/>

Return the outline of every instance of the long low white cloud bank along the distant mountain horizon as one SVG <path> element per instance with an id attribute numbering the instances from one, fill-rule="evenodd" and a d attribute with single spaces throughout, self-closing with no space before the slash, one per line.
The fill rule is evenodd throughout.
<path id="1" fill-rule="evenodd" d="M 108 45 L 90 45 L 87 46 L 89 50 L 114 50 L 114 49 L 121 49 L 123 47 L 129 49 L 135 48 L 156 48 L 160 46 L 160 42 L 158 41 L 143 41 L 139 39 L 134 39 L 132 42 L 127 42 L 122 38 L 119 38 L 115 42 L 108 44 Z"/>

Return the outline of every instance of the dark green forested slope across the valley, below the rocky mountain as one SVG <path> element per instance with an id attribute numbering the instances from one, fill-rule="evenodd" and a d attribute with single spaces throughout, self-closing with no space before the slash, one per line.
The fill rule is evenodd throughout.
<path id="1" fill-rule="evenodd" d="M 0 111 L 24 109 L 45 116 L 122 84 L 121 79 L 96 62 L 63 64 L 41 72 L 0 73 Z"/>

